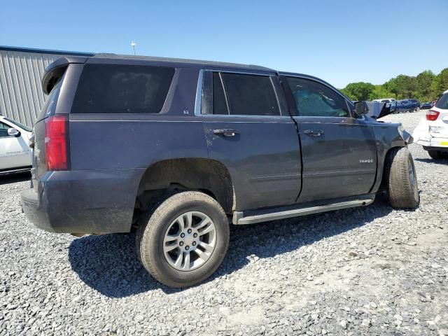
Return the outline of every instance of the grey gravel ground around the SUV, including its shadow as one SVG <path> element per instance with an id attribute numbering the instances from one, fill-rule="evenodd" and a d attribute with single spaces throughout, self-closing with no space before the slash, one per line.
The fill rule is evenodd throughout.
<path id="1" fill-rule="evenodd" d="M 29 176 L 0 179 L 0 335 L 448 335 L 448 161 L 409 148 L 418 209 L 379 195 L 232 228 L 215 276 L 185 290 L 146 274 L 133 235 L 37 230 L 18 205 Z"/>

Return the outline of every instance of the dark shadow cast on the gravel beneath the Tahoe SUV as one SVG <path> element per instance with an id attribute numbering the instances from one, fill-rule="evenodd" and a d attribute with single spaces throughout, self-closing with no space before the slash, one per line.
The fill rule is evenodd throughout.
<path id="1" fill-rule="evenodd" d="M 386 197 L 379 195 L 369 207 L 258 225 L 232 225 L 228 255 L 208 281 L 241 269 L 248 264 L 249 255 L 272 258 L 359 228 L 391 211 Z M 137 260 L 133 234 L 75 239 L 69 246 L 69 260 L 82 281 L 108 297 L 127 297 L 155 289 L 166 294 L 181 291 L 158 283 L 146 272 Z"/>

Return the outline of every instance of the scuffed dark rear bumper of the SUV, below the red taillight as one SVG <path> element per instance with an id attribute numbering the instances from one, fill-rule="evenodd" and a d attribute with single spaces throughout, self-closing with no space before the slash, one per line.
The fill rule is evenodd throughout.
<path id="1" fill-rule="evenodd" d="M 144 169 L 47 172 L 21 194 L 22 209 L 49 232 L 130 232 Z"/>

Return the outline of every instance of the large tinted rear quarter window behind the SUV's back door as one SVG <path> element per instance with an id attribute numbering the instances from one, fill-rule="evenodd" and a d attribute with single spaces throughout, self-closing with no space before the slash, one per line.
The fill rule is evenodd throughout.
<path id="1" fill-rule="evenodd" d="M 174 68 L 86 64 L 71 113 L 159 113 Z"/>

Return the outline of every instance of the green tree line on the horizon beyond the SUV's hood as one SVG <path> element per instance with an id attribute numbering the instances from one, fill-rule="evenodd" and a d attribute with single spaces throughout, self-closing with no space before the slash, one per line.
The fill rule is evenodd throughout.
<path id="1" fill-rule="evenodd" d="M 435 75 L 426 70 L 417 76 L 398 75 L 381 85 L 358 82 L 346 85 L 341 91 L 352 100 L 373 100 L 381 98 L 419 99 L 432 102 L 448 90 L 448 68 Z"/>

